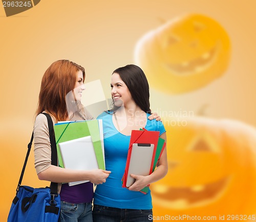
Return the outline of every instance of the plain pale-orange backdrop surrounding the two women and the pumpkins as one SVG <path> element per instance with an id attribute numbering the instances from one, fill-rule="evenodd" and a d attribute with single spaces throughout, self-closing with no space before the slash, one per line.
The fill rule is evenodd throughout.
<path id="1" fill-rule="evenodd" d="M 255 127 L 255 7 L 254 0 L 41 0 L 28 11 L 6 17 L 1 6 L 0 220 L 6 221 L 15 195 L 41 77 L 48 66 L 58 59 L 81 64 L 86 81 L 100 79 L 109 98 L 110 75 L 117 67 L 134 63 L 139 38 L 184 13 L 204 14 L 222 25 L 231 41 L 230 63 L 221 78 L 196 91 L 168 95 L 151 88 L 152 109 L 160 116 L 165 110 L 197 114 L 205 105 L 207 117 L 236 119 Z M 49 184 L 37 180 L 33 152 L 23 184 Z"/>

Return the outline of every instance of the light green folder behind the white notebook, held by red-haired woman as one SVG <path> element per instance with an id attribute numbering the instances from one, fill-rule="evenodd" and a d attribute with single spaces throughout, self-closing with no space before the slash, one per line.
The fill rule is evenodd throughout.
<path id="1" fill-rule="evenodd" d="M 91 136 L 99 169 L 105 169 L 103 156 L 104 154 L 101 146 L 98 120 L 57 123 L 53 127 L 56 139 L 58 162 L 60 167 L 63 168 L 64 166 L 58 144 L 82 137 Z"/>

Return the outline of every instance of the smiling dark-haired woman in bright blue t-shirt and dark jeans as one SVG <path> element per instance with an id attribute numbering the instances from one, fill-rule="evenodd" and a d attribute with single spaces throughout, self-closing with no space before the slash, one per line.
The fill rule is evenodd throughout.
<path id="1" fill-rule="evenodd" d="M 149 221 L 152 215 L 151 192 L 139 192 L 148 184 L 162 179 L 168 170 L 166 148 L 156 170 L 147 176 L 132 175 L 135 183 L 122 188 L 121 179 L 126 165 L 132 130 L 144 127 L 160 131 L 166 142 L 162 122 L 148 120 L 151 115 L 149 86 L 144 72 L 137 65 L 116 69 L 111 77 L 114 107 L 102 113 L 106 170 L 112 173 L 104 184 L 97 185 L 94 195 L 93 220 Z"/>

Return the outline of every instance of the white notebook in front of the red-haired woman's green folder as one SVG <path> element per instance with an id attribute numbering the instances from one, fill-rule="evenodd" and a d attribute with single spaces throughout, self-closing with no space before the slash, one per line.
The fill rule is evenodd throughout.
<path id="1" fill-rule="evenodd" d="M 92 170 L 99 169 L 91 136 L 59 143 L 63 165 L 67 169 Z M 70 182 L 69 186 L 89 181 Z"/>

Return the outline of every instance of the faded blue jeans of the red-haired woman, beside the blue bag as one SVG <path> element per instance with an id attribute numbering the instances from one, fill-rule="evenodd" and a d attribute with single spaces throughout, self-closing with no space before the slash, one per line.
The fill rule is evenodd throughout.
<path id="1" fill-rule="evenodd" d="M 59 222 L 93 222 L 92 203 L 60 202 Z"/>

